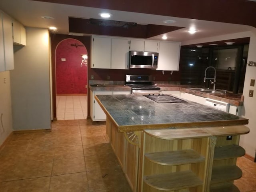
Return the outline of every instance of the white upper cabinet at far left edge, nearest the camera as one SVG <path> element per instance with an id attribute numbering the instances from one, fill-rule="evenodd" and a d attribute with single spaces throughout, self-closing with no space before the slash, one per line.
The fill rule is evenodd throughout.
<path id="1" fill-rule="evenodd" d="M 12 18 L 3 12 L 0 14 L 0 71 L 13 70 Z"/>

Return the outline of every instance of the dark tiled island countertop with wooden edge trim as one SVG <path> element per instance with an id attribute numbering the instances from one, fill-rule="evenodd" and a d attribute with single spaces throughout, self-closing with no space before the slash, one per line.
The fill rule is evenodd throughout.
<path id="1" fill-rule="evenodd" d="M 143 95 L 97 95 L 95 98 L 119 132 L 248 124 L 245 118 L 188 100 L 161 104 Z"/>

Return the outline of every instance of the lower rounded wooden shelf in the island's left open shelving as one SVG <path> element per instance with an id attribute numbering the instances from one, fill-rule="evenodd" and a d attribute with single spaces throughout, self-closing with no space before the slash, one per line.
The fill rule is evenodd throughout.
<path id="1" fill-rule="evenodd" d="M 203 184 L 192 171 L 144 176 L 143 180 L 149 186 L 164 191 L 192 188 Z"/>

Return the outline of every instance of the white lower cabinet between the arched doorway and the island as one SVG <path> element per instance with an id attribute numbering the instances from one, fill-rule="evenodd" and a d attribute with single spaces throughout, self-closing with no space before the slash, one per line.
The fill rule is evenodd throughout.
<path id="1" fill-rule="evenodd" d="M 106 121 L 106 114 L 104 111 L 101 109 L 100 105 L 98 102 L 95 100 L 94 96 L 95 95 L 112 95 L 112 91 L 94 91 L 91 92 L 91 107 L 92 107 L 92 113 L 91 113 L 91 118 L 93 121 Z"/>

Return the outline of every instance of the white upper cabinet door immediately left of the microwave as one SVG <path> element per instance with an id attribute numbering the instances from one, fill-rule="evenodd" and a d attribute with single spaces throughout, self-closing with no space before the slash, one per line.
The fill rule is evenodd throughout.
<path id="1" fill-rule="evenodd" d="M 129 40 L 112 38 L 111 69 L 128 69 Z"/>

